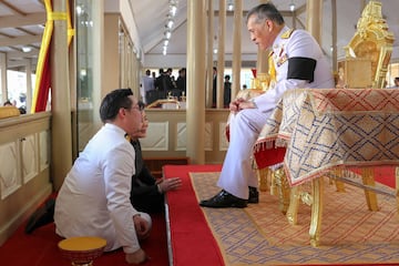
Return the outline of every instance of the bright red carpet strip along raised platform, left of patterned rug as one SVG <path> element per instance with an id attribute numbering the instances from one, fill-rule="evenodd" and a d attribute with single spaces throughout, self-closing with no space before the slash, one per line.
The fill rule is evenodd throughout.
<path id="1" fill-rule="evenodd" d="M 198 206 L 190 172 L 219 172 L 221 165 L 166 165 L 166 178 L 178 176 L 182 188 L 167 194 L 174 266 L 223 265 L 223 257 Z"/>

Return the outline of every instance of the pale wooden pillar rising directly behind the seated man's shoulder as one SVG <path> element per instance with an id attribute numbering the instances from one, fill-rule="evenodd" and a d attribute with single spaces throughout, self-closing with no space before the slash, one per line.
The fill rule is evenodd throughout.
<path id="1" fill-rule="evenodd" d="M 321 44 L 323 0 L 307 0 L 306 29 Z"/>

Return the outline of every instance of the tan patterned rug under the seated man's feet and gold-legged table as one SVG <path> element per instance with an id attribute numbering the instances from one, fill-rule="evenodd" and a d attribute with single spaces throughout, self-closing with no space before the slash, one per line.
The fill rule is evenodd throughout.
<path id="1" fill-rule="evenodd" d="M 190 173 L 200 200 L 215 195 L 218 173 Z M 336 192 L 326 180 L 321 245 L 309 245 L 310 207 L 301 204 L 298 225 L 278 211 L 277 196 L 260 193 L 247 208 L 202 208 L 226 265 L 398 264 L 399 219 L 396 200 L 378 195 L 370 212 L 364 191 L 346 185 Z"/>

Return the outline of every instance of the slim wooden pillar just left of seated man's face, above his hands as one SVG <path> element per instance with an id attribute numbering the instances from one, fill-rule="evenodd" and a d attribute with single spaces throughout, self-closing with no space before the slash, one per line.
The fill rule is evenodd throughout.
<path id="1" fill-rule="evenodd" d="M 233 33 L 233 85 L 231 100 L 235 99 L 241 90 L 242 69 L 242 27 L 243 25 L 243 2 L 234 1 L 234 33 Z"/>

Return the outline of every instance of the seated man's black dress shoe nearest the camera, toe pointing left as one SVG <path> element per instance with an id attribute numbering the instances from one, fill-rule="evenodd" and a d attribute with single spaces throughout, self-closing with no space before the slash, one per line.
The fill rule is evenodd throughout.
<path id="1" fill-rule="evenodd" d="M 246 207 L 247 200 L 236 197 L 225 190 L 222 190 L 218 194 L 211 197 L 209 200 L 201 201 L 200 206 L 203 207 L 214 207 L 214 208 L 224 208 L 224 207 Z"/>

